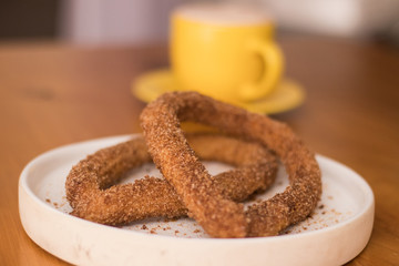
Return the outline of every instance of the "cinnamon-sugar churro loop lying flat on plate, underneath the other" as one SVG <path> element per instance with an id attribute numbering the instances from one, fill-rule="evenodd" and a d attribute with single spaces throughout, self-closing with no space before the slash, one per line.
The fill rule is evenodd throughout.
<path id="1" fill-rule="evenodd" d="M 256 143 L 219 134 L 188 134 L 187 140 L 200 157 L 237 166 L 212 177 L 227 198 L 243 201 L 266 190 L 275 180 L 276 156 Z M 164 178 L 146 176 L 114 185 L 124 173 L 149 162 L 152 161 L 143 137 L 100 150 L 79 162 L 65 183 L 72 214 L 109 225 L 187 215 L 187 208 Z"/>

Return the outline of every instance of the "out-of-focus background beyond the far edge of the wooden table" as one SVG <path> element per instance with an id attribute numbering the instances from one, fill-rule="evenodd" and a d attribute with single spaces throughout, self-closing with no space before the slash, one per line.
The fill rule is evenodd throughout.
<path id="1" fill-rule="evenodd" d="M 2 0 L 0 41 L 51 39 L 94 45 L 165 42 L 171 10 L 186 2 L 193 1 Z M 270 13 L 280 34 L 382 40 L 399 45 L 398 0 L 234 2 L 249 2 Z"/>

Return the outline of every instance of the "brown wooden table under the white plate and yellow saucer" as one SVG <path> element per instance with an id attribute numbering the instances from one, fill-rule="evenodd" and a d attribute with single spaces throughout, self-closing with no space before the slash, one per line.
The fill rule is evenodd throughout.
<path id="1" fill-rule="evenodd" d="M 320 154 L 360 173 L 376 196 L 371 239 L 350 265 L 399 264 L 399 51 L 315 37 L 279 40 L 287 75 L 305 104 L 273 115 Z M 73 48 L 0 44 L 0 265 L 63 265 L 24 233 L 18 178 L 40 153 L 94 137 L 139 132 L 140 74 L 167 66 L 163 45 Z"/>

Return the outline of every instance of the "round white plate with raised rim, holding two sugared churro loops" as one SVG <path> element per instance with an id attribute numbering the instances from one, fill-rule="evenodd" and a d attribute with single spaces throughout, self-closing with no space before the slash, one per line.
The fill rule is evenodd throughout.
<path id="1" fill-rule="evenodd" d="M 162 218 L 124 227 L 95 224 L 69 215 L 65 176 L 72 165 L 96 150 L 132 137 L 88 141 L 47 152 L 31 161 L 19 182 L 20 217 L 39 246 L 78 265 L 341 265 L 367 245 L 374 222 L 374 195 L 354 171 L 318 155 L 323 198 L 314 214 L 280 236 L 217 239 L 190 218 Z M 207 163 L 215 174 L 229 168 Z M 153 165 L 132 171 L 124 182 L 144 174 L 160 176 Z M 283 167 L 259 201 L 288 184 Z"/>

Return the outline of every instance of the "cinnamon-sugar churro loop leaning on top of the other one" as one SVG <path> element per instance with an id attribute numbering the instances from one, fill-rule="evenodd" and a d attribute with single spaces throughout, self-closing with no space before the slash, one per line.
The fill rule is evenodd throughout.
<path id="1" fill-rule="evenodd" d="M 204 123 L 267 146 L 285 165 L 290 185 L 244 211 L 213 185 L 180 129 L 181 121 Z M 314 153 L 287 125 L 265 115 L 195 92 L 172 92 L 144 109 L 141 125 L 155 165 L 174 186 L 190 216 L 211 236 L 277 235 L 305 219 L 320 198 L 320 170 Z"/>

